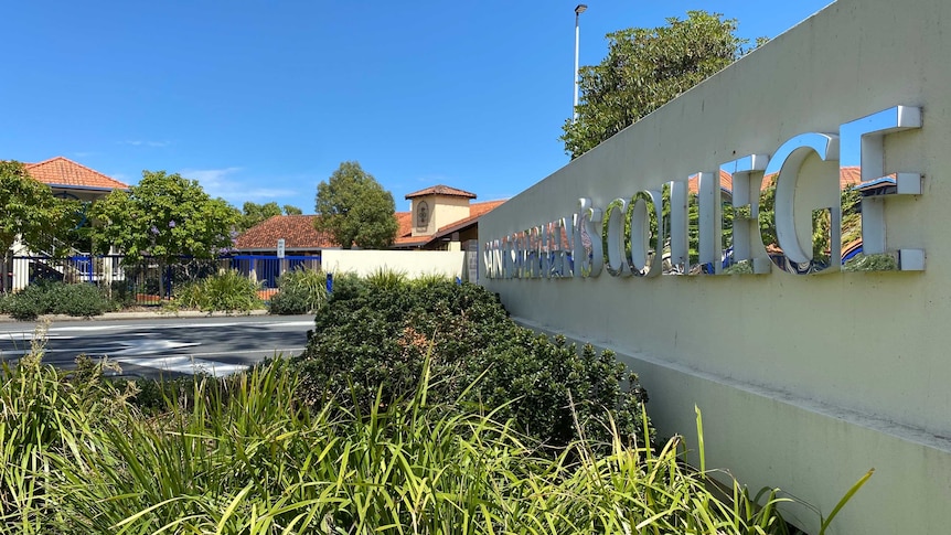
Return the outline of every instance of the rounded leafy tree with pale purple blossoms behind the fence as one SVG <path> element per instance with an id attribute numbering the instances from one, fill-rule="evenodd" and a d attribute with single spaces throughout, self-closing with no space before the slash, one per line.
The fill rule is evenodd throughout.
<path id="1" fill-rule="evenodd" d="M 224 200 L 209 196 L 197 181 L 164 171 L 142 171 L 138 185 L 113 191 L 92 212 L 99 223 L 93 236 L 100 253 L 115 246 L 126 261 L 151 257 L 161 266 L 182 256 L 214 258 L 227 250 L 241 215 Z"/>

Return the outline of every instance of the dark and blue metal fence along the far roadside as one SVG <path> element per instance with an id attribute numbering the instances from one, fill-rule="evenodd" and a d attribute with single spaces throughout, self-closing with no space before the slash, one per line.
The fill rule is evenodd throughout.
<path id="1" fill-rule="evenodd" d="M 302 268 L 319 270 L 320 267 L 320 256 L 180 258 L 164 266 L 154 258 L 128 261 L 121 255 L 14 256 L 8 287 L 15 291 L 40 280 L 92 282 L 107 289 L 114 298 L 150 304 L 170 298 L 177 287 L 231 269 L 259 283 L 263 297 L 267 298 L 273 293 L 268 290 L 277 288 L 281 274 Z"/>

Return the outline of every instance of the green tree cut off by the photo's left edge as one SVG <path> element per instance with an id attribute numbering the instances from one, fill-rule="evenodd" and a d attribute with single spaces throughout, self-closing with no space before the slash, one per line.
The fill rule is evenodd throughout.
<path id="1" fill-rule="evenodd" d="M 7 255 L 20 242 L 34 252 L 56 253 L 77 223 L 79 203 L 53 196 L 18 161 L 0 161 L 0 291 L 6 291 Z"/>

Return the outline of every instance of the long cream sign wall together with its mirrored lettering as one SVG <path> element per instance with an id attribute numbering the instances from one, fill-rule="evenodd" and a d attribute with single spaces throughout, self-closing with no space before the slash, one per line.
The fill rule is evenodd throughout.
<path id="1" fill-rule="evenodd" d="M 947 0 L 835 2 L 484 215 L 480 283 L 525 324 L 615 350 L 662 435 L 696 445 L 698 406 L 707 466 L 754 491 L 780 486 L 827 515 L 875 468 L 829 533 L 949 533 L 949 24 Z M 846 183 L 850 165 L 862 176 Z M 889 194 L 863 191 L 861 215 L 844 215 L 855 184 L 891 173 Z M 757 218 L 767 179 L 781 247 L 763 245 Z M 685 192 L 713 202 L 687 211 L 674 202 Z M 699 234 L 678 235 L 672 217 L 670 240 L 647 239 L 649 201 L 697 215 Z M 728 204 L 729 252 L 751 261 L 746 275 L 704 275 L 728 252 Z M 865 252 L 899 270 L 840 269 L 858 222 Z M 677 269 L 687 244 L 707 258 Z M 652 247 L 670 258 L 633 255 Z M 815 514 L 792 515 L 818 533 Z"/>

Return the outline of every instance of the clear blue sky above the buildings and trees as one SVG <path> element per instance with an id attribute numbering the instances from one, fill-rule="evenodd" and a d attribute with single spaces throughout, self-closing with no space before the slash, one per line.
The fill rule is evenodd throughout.
<path id="1" fill-rule="evenodd" d="M 133 184 L 313 212 L 356 160 L 408 210 L 447 184 L 510 197 L 568 162 L 577 1 L 3 2 L 0 159 L 64 156 Z M 774 38 L 830 3 L 587 0 L 580 63 L 605 34 L 704 9 Z"/>

